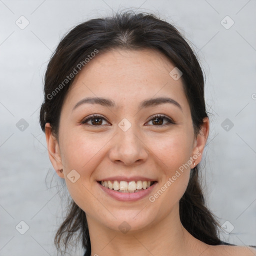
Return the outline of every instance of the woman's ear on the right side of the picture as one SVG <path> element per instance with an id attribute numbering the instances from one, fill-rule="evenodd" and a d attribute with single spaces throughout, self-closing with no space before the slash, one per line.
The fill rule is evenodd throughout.
<path id="1" fill-rule="evenodd" d="M 193 158 L 193 162 L 191 164 L 191 168 L 194 168 L 201 161 L 202 152 L 206 144 L 208 135 L 209 135 L 209 118 L 204 117 L 200 130 L 194 139 L 192 156 L 191 156 Z"/>

